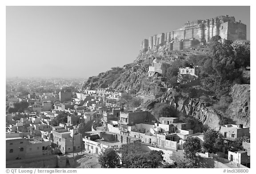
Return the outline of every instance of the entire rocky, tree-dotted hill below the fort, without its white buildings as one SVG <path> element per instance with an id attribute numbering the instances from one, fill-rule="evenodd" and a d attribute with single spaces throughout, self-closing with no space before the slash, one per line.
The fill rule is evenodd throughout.
<path id="1" fill-rule="evenodd" d="M 149 77 L 148 66 L 155 58 L 169 65 L 165 74 L 155 73 Z M 195 80 L 188 84 L 177 83 L 178 67 L 192 66 L 199 68 L 198 79 L 194 77 Z M 156 119 L 160 116 L 178 117 L 184 122 L 193 122 L 192 129 L 202 132 L 205 130 L 202 124 L 209 116 L 215 116 L 213 120 L 218 125 L 234 124 L 233 119 L 249 124 L 250 98 L 243 91 L 249 93 L 250 85 L 239 87 L 250 84 L 249 66 L 249 42 L 221 41 L 220 36 L 214 36 L 204 51 L 168 51 L 164 45 L 158 50 L 141 52 L 133 63 L 90 77 L 85 86 L 95 88 L 106 83 L 113 89 L 127 90 L 132 98 L 122 100 L 125 108 L 142 106 Z M 233 88 L 234 85 L 238 86 Z M 238 93 L 236 90 L 240 89 L 243 91 Z M 143 103 L 139 97 L 147 95 L 155 96 L 155 99 Z M 239 100 L 244 104 L 237 102 Z M 236 109 L 231 109 L 231 105 L 236 105 Z M 201 112 L 204 108 L 209 111 L 206 115 Z"/>

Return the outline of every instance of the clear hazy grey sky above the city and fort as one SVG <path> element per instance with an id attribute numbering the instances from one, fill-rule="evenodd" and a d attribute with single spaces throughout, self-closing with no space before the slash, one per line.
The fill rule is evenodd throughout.
<path id="1" fill-rule="evenodd" d="M 144 38 L 218 15 L 250 39 L 249 6 L 8 6 L 6 77 L 95 76 L 133 62 Z"/>

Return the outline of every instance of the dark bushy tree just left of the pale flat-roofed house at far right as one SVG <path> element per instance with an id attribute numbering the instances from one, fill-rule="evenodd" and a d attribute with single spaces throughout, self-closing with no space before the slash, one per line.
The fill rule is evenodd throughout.
<path id="1" fill-rule="evenodd" d="M 222 135 L 213 129 L 208 129 L 204 132 L 204 151 L 210 153 L 216 153 L 217 151 L 222 151 L 224 147 L 224 140 Z"/>

